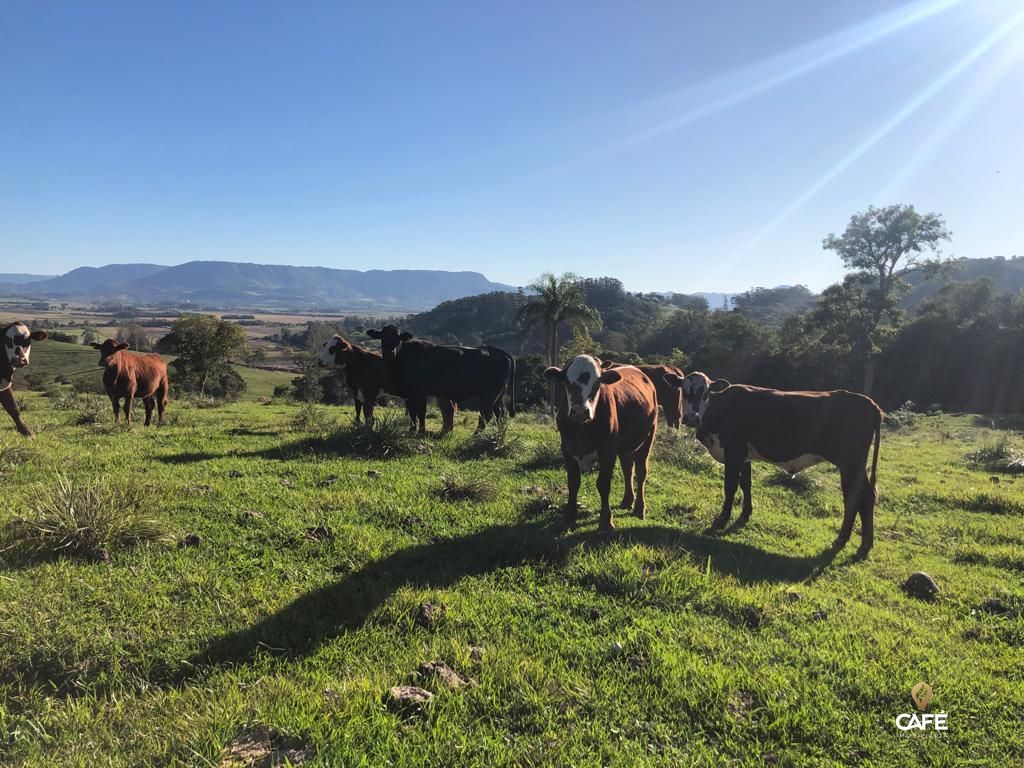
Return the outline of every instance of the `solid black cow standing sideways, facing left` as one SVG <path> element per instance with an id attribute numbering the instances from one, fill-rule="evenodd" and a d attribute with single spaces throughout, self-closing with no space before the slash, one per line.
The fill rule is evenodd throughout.
<path id="1" fill-rule="evenodd" d="M 410 402 L 414 420 L 422 427 L 426 398 L 434 396 L 460 402 L 479 398 L 476 431 L 494 417 L 504 418 L 502 404 L 508 394 L 508 416 L 515 416 L 515 357 L 497 347 L 459 347 L 414 339 L 394 326 L 370 329 L 381 342 L 381 354 L 401 397 Z"/>

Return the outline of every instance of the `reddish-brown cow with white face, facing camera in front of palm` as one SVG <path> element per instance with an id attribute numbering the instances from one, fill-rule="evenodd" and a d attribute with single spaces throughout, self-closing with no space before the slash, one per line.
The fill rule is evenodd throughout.
<path id="1" fill-rule="evenodd" d="M 647 459 L 657 431 L 654 384 L 633 366 L 602 371 L 601 360 L 588 354 L 572 358 L 564 369 L 547 369 L 544 378 L 565 387 L 555 420 L 568 479 L 565 521 L 575 522 L 581 475 L 596 463 L 597 490 L 601 495 L 599 527 L 614 527 L 608 494 L 616 457 L 626 483 L 620 507 L 632 507 L 633 513 L 643 519 L 647 511 Z"/>

